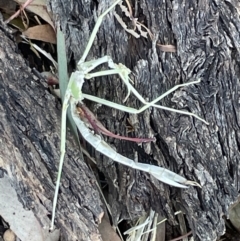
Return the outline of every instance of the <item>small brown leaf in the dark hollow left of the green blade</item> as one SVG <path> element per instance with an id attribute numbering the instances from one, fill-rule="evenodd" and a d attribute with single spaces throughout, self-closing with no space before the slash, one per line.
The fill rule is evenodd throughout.
<path id="1" fill-rule="evenodd" d="M 49 24 L 37 25 L 28 28 L 23 35 L 29 39 L 40 40 L 47 43 L 56 44 L 56 34 Z"/>

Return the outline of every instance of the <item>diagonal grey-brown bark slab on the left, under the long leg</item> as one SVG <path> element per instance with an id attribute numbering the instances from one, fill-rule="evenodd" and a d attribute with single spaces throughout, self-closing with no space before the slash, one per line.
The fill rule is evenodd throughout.
<path id="1" fill-rule="evenodd" d="M 23 206 L 48 229 L 60 154 L 60 110 L 47 84 L 31 73 L 1 29 L 0 113 L 1 178 L 8 176 Z M 103 210 L 95 177 L 72 139 L 67 149 L 57 212 L 61 240 L 101 240 Z"/>

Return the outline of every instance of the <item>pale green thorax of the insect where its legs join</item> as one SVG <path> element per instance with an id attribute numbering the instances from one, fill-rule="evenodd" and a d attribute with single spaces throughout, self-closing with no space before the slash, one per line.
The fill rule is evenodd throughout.
<path id="1" fill-rule="evenodd" d="M 82 85 L 84 83 L 84 74 L 81 71 L 73 72 L 69 81 L 69 91 L 71 96 L 77 100 L 81 101 L 83 99 L 82 95 Z"/>

